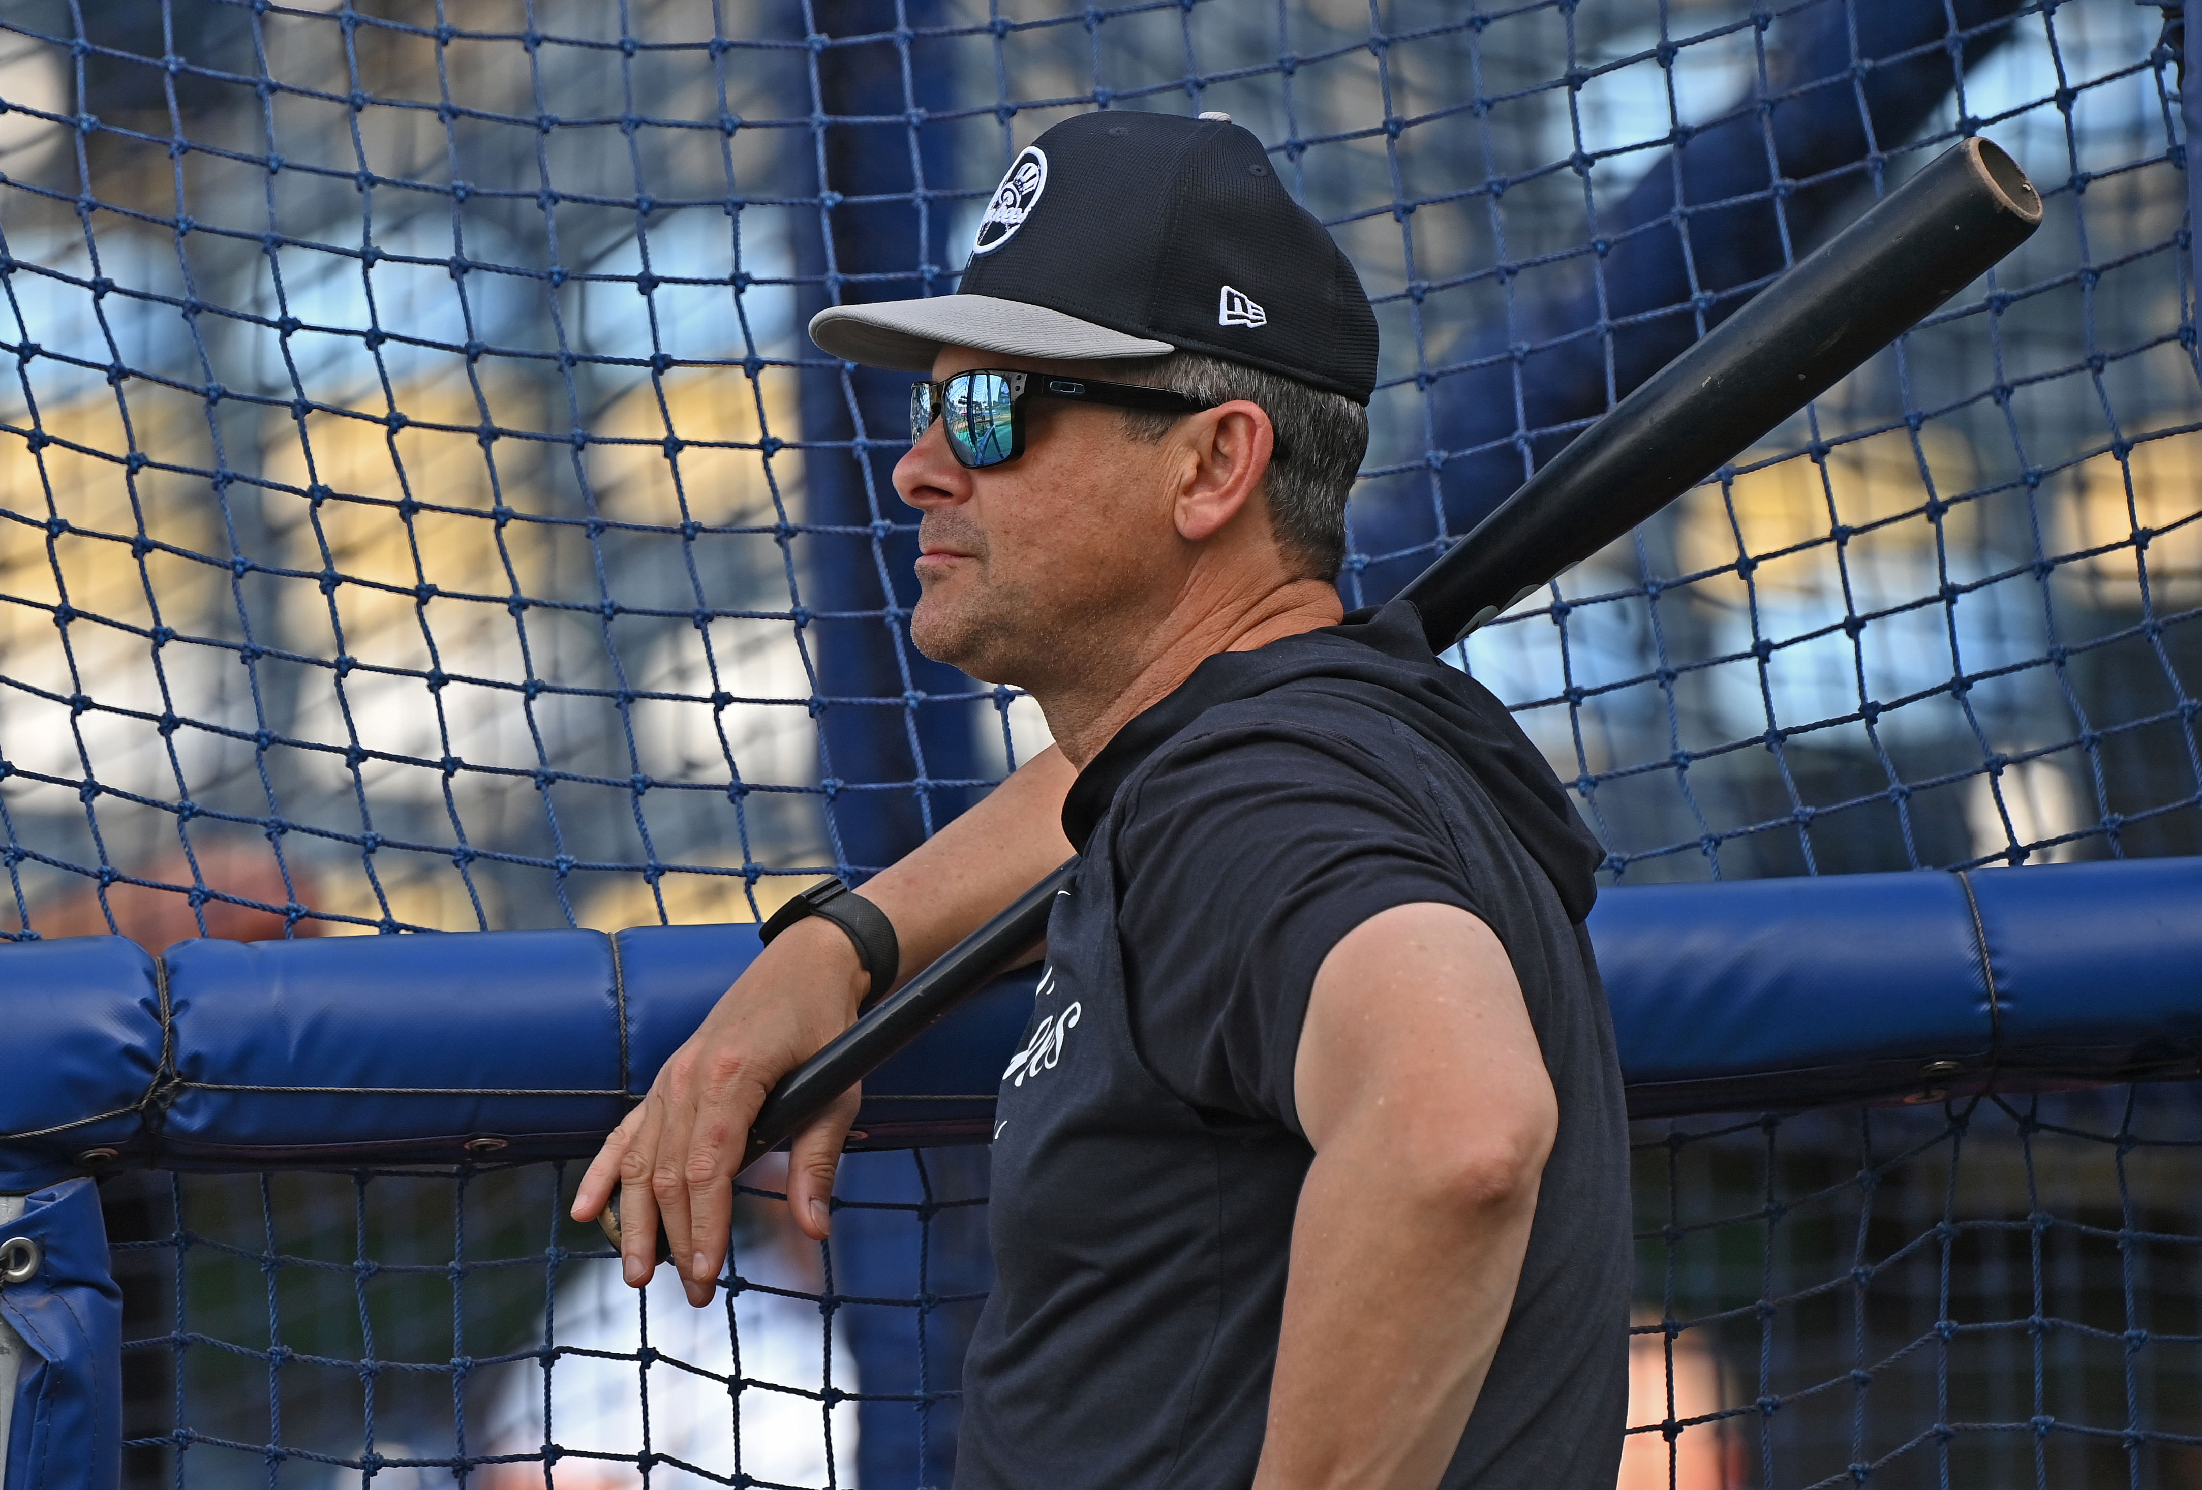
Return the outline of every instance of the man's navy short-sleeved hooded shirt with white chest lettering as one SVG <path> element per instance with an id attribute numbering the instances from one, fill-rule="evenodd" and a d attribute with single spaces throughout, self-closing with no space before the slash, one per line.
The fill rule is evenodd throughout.
<path id="1" fill-rule="evenodd" d="M 1409 607 L 1209 658 L 1079 775 L 1079 869 L 1002 1074 L 998 1283 L 964 1365 L 960 1490 L 1253 1479 L 1315 968 L 1394 905 L 1480 916 L 1559 1096 L 1528 1257 L 1445 1486 L 1610 1490 L 1627 1395 L 1621 1072 L 1583 916 L 1599 847 Z M 1400 1299 L 1400 1307 L 1416 1307 Z"/>

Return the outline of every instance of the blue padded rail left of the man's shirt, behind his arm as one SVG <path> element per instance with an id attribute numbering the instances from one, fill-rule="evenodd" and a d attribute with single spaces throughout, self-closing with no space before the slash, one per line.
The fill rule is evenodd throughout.
<path id="1" fill-rule="evenodd" d="M 108 1164 L 586 1155 L 757 955 L 753 924 L 0 946 L 0 1191 Z M 859 1147 L 984 1138 L 1033 975 L 870 1085 Z M 20 1043 L 18 1043 L 20 1041 Z"/>

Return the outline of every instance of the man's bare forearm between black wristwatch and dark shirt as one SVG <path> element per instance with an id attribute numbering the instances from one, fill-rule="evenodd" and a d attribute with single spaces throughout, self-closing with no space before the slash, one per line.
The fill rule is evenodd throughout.
<path id="1" fill-rule="evenodd" d="M 901 984 L 1070 858 L 1064 797 L 1077 773 L 1048 746 L 984 801 L 863 883 L 894 922 Z"/>

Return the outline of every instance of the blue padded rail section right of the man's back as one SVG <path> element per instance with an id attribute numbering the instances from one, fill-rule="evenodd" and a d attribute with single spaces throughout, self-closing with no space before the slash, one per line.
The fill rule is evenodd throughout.
<path id="1" fill-rule="evenodd" d="M 2202 858 L 1607 891 L 1590 935 L 1634 1116 L 2202 1059 Z"/>

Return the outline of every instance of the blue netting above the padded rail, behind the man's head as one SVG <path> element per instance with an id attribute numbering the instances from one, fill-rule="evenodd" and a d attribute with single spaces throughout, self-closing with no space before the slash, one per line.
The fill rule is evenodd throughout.
<path id="1" fill-rule="evenodd" d="M 15 0 L 0 933 L 749 918 L 969 803 L 1044 724 L 909 647 L 907 379 L 802 326 L 951 291 L 1013 150 L 1097 106 L 1229 110 L 1361 266 L 1354 601 L 1872 194 L 1997 139 L 2048 202 L 2026 249 L 1462 660 L 1632 883 L 2195 852 L 2162 24 Z M 905 1336 L 872 1358 L 934 1369 Z M 898 1411 L 865 1409 L 865 1455 L 916 1442 Z"/>

